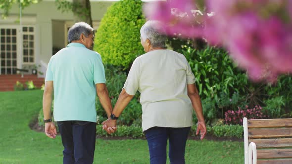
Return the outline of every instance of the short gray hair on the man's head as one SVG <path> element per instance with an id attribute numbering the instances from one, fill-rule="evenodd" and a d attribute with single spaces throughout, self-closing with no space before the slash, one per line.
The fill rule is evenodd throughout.
<path id="1" fill-rule="evenodd" d="M 92 31 L 94 31 L 94 29 L 85 22 L 75 23 L 68 31 L 68 42 L 71 43 L 72 41 L 78 41 L 81 34 L 88 37 L 92 34 Z"/>

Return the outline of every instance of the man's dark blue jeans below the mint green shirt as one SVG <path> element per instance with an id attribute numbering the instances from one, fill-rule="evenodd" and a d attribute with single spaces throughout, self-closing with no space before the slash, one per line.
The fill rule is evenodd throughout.
<path id="1" fill-rule="evenodd" d="M 63 164 L 92 164 L 96 148 L 96 123 L 85 121 L 57 122 L 63 151 Z"/>

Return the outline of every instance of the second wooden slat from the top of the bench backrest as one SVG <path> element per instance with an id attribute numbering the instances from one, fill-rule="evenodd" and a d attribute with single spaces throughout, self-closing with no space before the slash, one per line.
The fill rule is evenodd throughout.
<path id="1" fill-rule="evenodd" d="M 248 138 L 292 137 L 292 127 L 248 129 Z"/>

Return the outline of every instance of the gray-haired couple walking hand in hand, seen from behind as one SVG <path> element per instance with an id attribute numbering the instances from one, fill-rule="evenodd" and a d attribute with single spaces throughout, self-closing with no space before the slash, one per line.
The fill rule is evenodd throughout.
<path id="1" fill-rule="evenodd" d="M 146 135 L 150 164 L 166 163 L 169 140 L 171 164 L 185 164 L 185 147 L 198 119 L 196 134 L 203 139 L 206 126 L 195 76 L 183 54 L 165 48 L 166 37 L 158 21 L 147 21 L 141 28 L 145 54 L 137 57 L 119 98 L 112 109 L 105 85 L 100 55 L 93 51 L 93 29 L 79 22 L 68 31 L 69 44 L 51 57 L 43 97 L 45 132 L 55 138 L 50 109 L 54 96 L 54 121 L 64 146 L 64 164 L 92 164 L 96 142 L 96 95 L 108 119 L 103 129 L 118 130 L 116 121 L 137 91 L 141 93 L 142 128 Z"/>

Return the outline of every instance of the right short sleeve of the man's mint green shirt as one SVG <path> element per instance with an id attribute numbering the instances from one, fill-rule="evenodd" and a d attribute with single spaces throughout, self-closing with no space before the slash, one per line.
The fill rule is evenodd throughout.
<path id="1" fill-rule="evenodd" d="M 102 60 L 100 55 L 97 53 L 97 57 L 95 58 L 94 67 L 94 82 L 97 83 L 105 83 L 105 74 L 104 74 L 104 66 L 102 64 Z"/>

